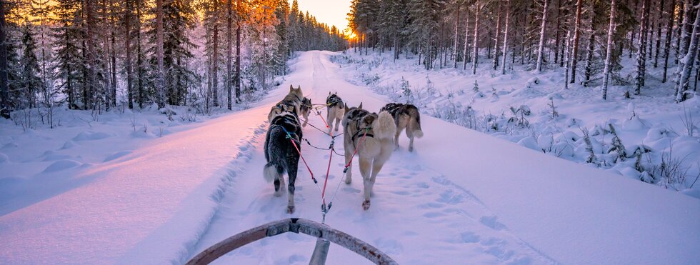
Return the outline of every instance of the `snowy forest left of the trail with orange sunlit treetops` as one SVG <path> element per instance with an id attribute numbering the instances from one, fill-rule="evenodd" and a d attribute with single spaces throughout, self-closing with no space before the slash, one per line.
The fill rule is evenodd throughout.
<path id="1" fill-rule="evenodd" d="M 286 74 L 294 51 L 347 47 L 296 0 L 0 0 L 0 9 L 6 117 L 59 104 L 231 109 Z"/>

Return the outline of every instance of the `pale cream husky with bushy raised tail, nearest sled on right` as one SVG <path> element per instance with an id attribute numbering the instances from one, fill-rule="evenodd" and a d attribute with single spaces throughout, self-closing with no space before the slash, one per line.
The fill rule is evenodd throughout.
<path id="1" fill-rule="evenodd" d="M 357 150 L 360 161 L 360 174 L 364 183 L 364 201 L 362 207 L 369 209 L 369 196 L 384 162 L 389 160 L 394 151 L 394 134 L 396 124 L 394 118 L 387 111 L 370 113 L 358 107 L 345 106 L 343 117 L 345 164 L 350 164 L 352 154 Z M 363 140 L 364 137 L 364 140 Z M 349 167 L 345 176 L 345 183 L 352 181 L 352 170 Z"/>

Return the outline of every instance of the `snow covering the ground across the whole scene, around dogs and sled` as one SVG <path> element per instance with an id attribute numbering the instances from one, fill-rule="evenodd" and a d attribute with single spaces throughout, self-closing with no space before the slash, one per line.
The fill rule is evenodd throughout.
<path id="1" fill-rule="evenodd" d="M 109 121 L 91 125 L 76 121 L 54 129 L 58 133 L 24 132 L 14 124 L 1 123 L 0 263 L 181 264 L 228 236 L 269 221 L 289 217 L 320 221 L 321 191 L 304 166 L 297 178 L 296 212 L 286 214 L 286 197 L 275 197 L 272 184 L 261 176 L 262 145 L 269 106 L 286 94 L 289 84 L 301 85 L 313 102 L 323 102 L 329 91 L 338 91 L 349 106 L 362 103 L 370 111 L 391 100 L 375 94 L 374 87 L 346 81 L 363 74 L 363 69 L 332 62 L 331 56 L 338 55 L 301 53 L 290 61 L 291 74 L 281 89 L 271 91 L 251 109 L 195 124 L 168 126 L 168 121 L 161 123 L 166 117 L 158 114 L 139 118 L 137 125 L 129 121 L 131 114 L 105 114 L 102 121 Z M 402 67 L 386 64 L 376 72 L 388 71 L 382 67 L 390 66 Z M 401 69 L 394 71 L 405 74 L 412 89 L 419 87 L 417 79 L 425 78 L 424 73 L 416 77 Z M 435 94 L 447 95 L 447 89 L 459 88 L 466 99 L 474 95 L 473 81 L 456 78 L 456 71 L 447 76 L 451 79 L 431 74 Z M 523 75 L 508 82 L 515 87 L 530 78 Z M 445 86 L 447 80 L 464 86 Z M 489 91 L 496 83 L 480 80 L 479 85 Z M 539 78 L 528 93 L 545 97 L 555 91 L 539 90 L 551 85 L 551 79 Z M 496 90 L 512 91 L 502 86 Z M 416 99 L 428 96 L 414 92 Z M 576 98 L 578 92 L 556 93 L 566 100 Z M 513 94 L 499 95 L 496 104 L 510 101 Z M 491 91 L 485 97 L 490 99 Z M 513 101 L 518 102 L 502 106 L 526 104 L 532 124 L 547 124 L 549 118 L 540 110 L 549 99 Z M 668 126 L 659 124 L 676 113 L 654 116 L 653 109 L 642 106 L 650 104 L 636 104 L 638 121 L 646 124 L 642 127 L 629 120 L 631 114 L 624 106 L 620 110 L 602 104 L 603 109 L 587 114 L 590 106 L 573 106 L 571 101 L 556 104 L 566 119 L 593 128 L 591 136 L 607 128 L 592 117 L 609 111 L 606 121 L 620 127 L 623 141 L 630 142 L 628 148 L 644 141 L 652 149 L 664 149 L 669 144 L 661 141 L 671 141 L 674 154 L 700 150 L 697 137 L 671 135 L 664 131 Z M 474 109 L 483 111 L 486 106 L 474 104 Z M 501 111 L 492 114 L 498 117 Z M 630 124 L 623 130 L 625 121 Z M 310 123 L 322 127 L 319 116 L 310 115 Z M 566 156 L 570 152 L 573 157 L 572 145 L 581 146 L 576 125 L 557 126 L 559 131 L 527 137 L 503 131 L 489 135 L 423 115 L 424 137 L 416 139 L 416 151 L 409 152 L 408 139 L 400 136 L 401 148 L 377 177 L 369 211 L 361 208 L 359 174 L 352 184 L 341 183 L 344 159 L 332 156 L 328 191 L 333 194 L 338 188 L 326 224 L 378 247 L 400 264 L 691 264 L 700 260 L 697 189 L 662 189 L 575 163 L 575 159 L 545 154 L 541 149 L 551 148 L 568 150 L 552 153 Z M 167 133 L 160 136 L 161 131 Z M 304 128 L 304 136 L 315 146 L 331 142 L 310 126 Z M 600 152 L 609 137 L 601 140 L 591 137 L 596 154 L 604 157 Z M 512 141 L 524 141 L 528 148 Z M 335 144 L 342 154 L 340 143 Z M 323 180 L 329 151 L 306 144 L 301 148 L 316 178 Z M 628 161 L 634 163 L 634 159 Z M 358 172 L 356 164 L 353 170 Z M 630 167 L 624 164 L 611 170 L 633 174 Z M 215 263 L 306 264 L 314 243 L 309 236 L 287 233 L 243 246 Z M 332 245 L 328 263 L 366 261 Z"/>

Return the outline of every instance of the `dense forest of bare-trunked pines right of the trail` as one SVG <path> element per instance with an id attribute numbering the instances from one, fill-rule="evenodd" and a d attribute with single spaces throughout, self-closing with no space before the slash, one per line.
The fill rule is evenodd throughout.
<path id="1" fill-rule="evenodd" d="M 681 102 L 696 91 L 699 0 L 353 0 L 355 49 L 417 54 L 426 69 L 489 63 L 506 74 L 561 69 L 566 84 L 634 84 L 663 67 Z M 623 56 L 635 74 L 621 75 Z M 489 60 L 483 60 L 489 59 Z M 669 70 L 670 69 L 670 70 Z M 629 93 L 626 94 L 629 97 Z"/>

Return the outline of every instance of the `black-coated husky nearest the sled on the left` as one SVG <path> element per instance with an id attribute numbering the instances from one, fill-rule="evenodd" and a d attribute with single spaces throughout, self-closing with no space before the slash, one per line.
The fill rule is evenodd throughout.
<path id="1" fill-rule="evenodd" d="M 289 201 L 287 212 L 294 213 L 294 181 L 296 181 L 296 169 L 299 166 L 301 154 L 301 126 L 299 116 L 294 113 L 294 106 L 281 106 L 281 112 L 274 116 L 265 136 L 265 159 L 267 164 L 263 169 L 265 180 L 274 181 L 275 196 L 284 194 L 284 178 L 286 172 L 289 176 Z M 296 141 L 296 147 L 291 141 Z M 299 150 L 297 151 L 297 148 Z"/>

